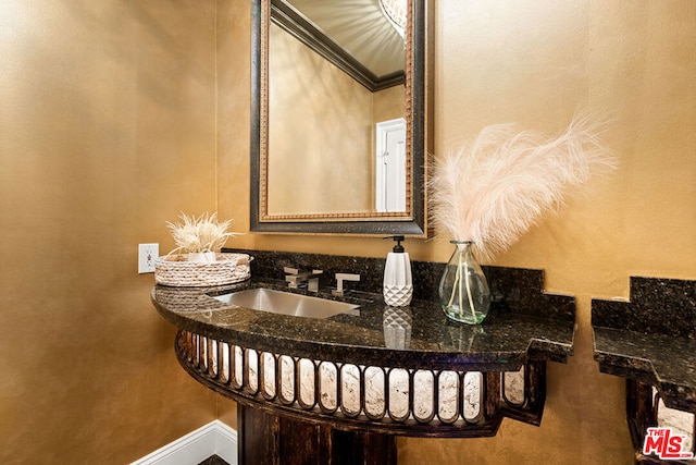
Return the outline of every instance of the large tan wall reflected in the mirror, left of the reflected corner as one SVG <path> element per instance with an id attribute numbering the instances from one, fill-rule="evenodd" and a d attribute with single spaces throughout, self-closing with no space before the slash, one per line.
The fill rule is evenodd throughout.
<path id="1" fill-rule="evenodd" d="M 372 211 L 372 93 L 270 28 L 269 213 Z"/>

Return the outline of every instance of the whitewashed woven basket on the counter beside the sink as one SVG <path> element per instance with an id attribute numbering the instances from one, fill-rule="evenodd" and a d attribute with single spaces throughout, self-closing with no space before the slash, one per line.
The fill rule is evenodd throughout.
<path id="1" fill-rule="evenodd" d="M 154 282 L 181 287 L 231 284 L 251 277 L 253 257 L 247 254 L 215 254 L 210 264 L 187 261 L 184 255 L 160 257 L 154 262 Z"/>

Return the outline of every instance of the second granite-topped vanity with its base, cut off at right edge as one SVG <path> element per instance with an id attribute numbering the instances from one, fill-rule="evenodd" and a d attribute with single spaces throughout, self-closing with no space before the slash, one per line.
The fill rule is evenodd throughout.
<path id="1" fill-rule="evenodd" d="M 600 371 L 626 380 L 635 463 L 693 464 L 643 451 L 651 427 L 694 436 L 693 419 L 691 426 L 669 413 L 660 419 L 659 399 L 667 407 L 696 414 L 696 281 L 631 278 L 629 302 L 592 302 L 592 325 Z"/>

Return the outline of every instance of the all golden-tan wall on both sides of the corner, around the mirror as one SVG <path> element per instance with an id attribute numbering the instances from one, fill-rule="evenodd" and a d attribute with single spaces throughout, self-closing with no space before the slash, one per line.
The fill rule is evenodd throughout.
<path id="1" fill-rule="evenodd" d="M 626 296 L 631 274 L 696 279 L 696 2 L 435 7 L 436 154 L 490 123 L 557 131 L 582 107 L 613 118 L 621 167 L 495 261 L 544 268 L 548 291 L 577 298 L 575 355 L 549 364 L 542 426 L 400 439 L 400 463 L 627 465 L 623 383 L 592 359 L 589 303 Z M 181 210 L 248 230 L 249 14 L 247 0 L 0 4 L 0 462 L 122 464 L 234 424 L 233 403 L 174 360 L 136 248 L 171 248 Z M 388 252 L 364 237 L 234 245 Z M 447 237 L 406 245 L 451 252 Z"/>

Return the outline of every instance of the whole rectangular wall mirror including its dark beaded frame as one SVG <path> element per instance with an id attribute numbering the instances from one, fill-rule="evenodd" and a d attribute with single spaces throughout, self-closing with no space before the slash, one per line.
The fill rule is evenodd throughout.
<path id="1" fill-rule="evenodd" d="M 252 232 L 426 235 L 432 15 L 405 4 L 398 30 L 377 0 L 253 1 Z"/>

